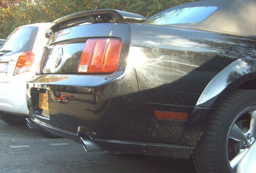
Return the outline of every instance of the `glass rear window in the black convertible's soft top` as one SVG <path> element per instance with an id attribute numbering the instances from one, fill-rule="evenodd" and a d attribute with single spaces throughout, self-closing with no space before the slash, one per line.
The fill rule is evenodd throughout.
<path id="1" fill-rule="evenodd" d="M 213 12 L 217 10 L 216 6 L 198 6 L 187 7 L 168 12 L 161 13 L 157 16 L 152 16 L 144 23 L 147 24 L 184 24 L 184 23 L 197 23 L 208 18 Z"/>

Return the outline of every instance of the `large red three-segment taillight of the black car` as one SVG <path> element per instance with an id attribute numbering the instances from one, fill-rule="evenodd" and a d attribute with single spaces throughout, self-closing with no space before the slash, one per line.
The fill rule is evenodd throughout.
<path id="1" fill-rule="evenodd" d="M 116 38 L 88 39 L 78 64 L 78 73 L 112 73 L 118 67 L 122 41 Z"/>

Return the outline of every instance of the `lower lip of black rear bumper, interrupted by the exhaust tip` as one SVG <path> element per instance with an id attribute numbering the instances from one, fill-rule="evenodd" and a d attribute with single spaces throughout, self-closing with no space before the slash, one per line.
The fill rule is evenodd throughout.
<path id="1" fill-rule="evenodd" d="M 56 135 L 61 135 L 69 139 L 73 139 L 79 142 L 79 136 L 71 131 L 65 131 L 63 129 L 58 129 L 38 121 L 35 118 L 30 119 L 30 123 L 34 123 L 43 129 L 54 133 Z M 29 125 L 33 128 L 33 125 Z M 34 127 L 35 128 L 35 127 Z M 144 155 L 157 155 L 166 157 L 177 157 L 182 159 L 189 159 L 194 151 L 194 147 L 184 147 L 179 145 L 167 145 L 158 143 L 142 143 L 142 142 L 130 142 L 130 141 L 117 141 L 117 140 L 107 140 L 95 138 L 93 142 L 97 143 L 102 149 L 107 151 L 116 151 L 120 153 L 127 154 L 144 154 Z"/>

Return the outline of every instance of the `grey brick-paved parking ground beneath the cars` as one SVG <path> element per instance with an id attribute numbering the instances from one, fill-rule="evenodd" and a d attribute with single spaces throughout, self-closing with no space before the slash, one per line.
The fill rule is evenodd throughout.
<path id="1" fill-rule="evenodd" d="M 47 139 L 37 129 L 0 119 L 0 173 L 195 173 L 192 162 L 147 155 L 86 153 L 69 139 Z"/>

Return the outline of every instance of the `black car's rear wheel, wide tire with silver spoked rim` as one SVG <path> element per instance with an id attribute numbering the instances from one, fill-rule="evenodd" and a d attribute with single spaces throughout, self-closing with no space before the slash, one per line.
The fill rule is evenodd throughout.
<path id="1" fill-rule="evenodd" d="M 235 90 L 211 115 L 192 159 L 198 173 L 235 173 L 256 138 L 256 91 Z"/>

